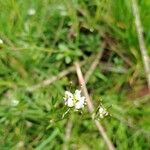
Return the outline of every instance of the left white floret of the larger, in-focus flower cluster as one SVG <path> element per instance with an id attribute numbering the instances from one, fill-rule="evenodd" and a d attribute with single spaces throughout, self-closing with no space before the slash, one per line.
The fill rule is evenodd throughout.
<path id="1" fill-rule="evenodd" d="M 73 94 L 69 91 L 65 91 L 64 101 L 65 105 L 67 105 L 68 107 L 73 107 L 74 106 Z"/>

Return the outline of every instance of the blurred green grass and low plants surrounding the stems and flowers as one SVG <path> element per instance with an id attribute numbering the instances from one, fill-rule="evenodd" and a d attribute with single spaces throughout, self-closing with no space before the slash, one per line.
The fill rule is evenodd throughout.
<path id="1" fill-rule="evenodd" d="M 150 2 L 138 4 L 150 55 Z M 86 61 L 86 74 L 103 46 L 87 83 L 96 108 L 101 99 L 111 106 L 111 116 L 101 123 L 116 149 L 150 148 L 150 96 L 130 1 L 0 0 L 0 10 L 0 149 L 107 149 L 87 109 L 62 119 L 64 91 L 70 82 L 80 88 L 75 72 L 27 90 L 75 61 Z"/>

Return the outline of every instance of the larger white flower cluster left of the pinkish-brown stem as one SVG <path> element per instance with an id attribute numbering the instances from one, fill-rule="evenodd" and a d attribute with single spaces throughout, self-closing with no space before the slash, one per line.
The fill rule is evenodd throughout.
<path id="1" fill-rule="evenodd" d="M 63 99 L 66 106 L 74 107 L 76 110 L 83 108 L 86 104 L 85 97 L 81 96 L 80 90 L 75 90 L 74 94 L 70 91 L 65 91 L 65 96 Z"/>

